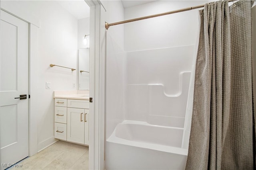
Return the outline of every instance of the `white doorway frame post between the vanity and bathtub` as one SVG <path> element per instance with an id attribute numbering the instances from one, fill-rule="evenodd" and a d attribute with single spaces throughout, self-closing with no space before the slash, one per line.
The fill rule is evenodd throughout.
<path id="1" fill-rule="evenodd" d="M 85 0 L 90 7 L 89 169 L 104 170 L 105 143 L 105 20 L 100 0 Z"/>

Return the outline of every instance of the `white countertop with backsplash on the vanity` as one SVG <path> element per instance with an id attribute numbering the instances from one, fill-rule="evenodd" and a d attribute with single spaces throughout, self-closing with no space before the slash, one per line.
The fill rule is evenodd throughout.
<path id="1" fill-rule="evenodd" d="M 54 91 L 53 98 L 89 100 L 89 90 Z"/>

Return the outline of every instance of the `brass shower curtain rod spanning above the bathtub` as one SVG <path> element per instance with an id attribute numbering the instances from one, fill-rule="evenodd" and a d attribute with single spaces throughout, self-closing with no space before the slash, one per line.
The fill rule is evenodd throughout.
<path id="1" fill-rule="evenodd" d="M 233 1 L 235 1 L 235 0 L 228 0 L 228 2 L 233 2 Z M 154 17 L 159 17 L 159 16 L 165 16 L 165 15 L 174 14 L 174 13 L 178 13 L 178 12 L 184 12 L 184 11 L 194 10 L 194 9 L 197 9 L 197 8 L 202 8 L 202 7 L 204 7 L 204 6 L 205 6 L 205 4 L 203 4 L 203 5 L 198 5 L 198 6 L 192 6 L 192 7 L 183 8 L 183 9 L 180 9 L 180 10 L 174 10 L 174 11 L 164 12 L 164 13 L 161 13 L 161 14 L 155 14 L 155 15 L 151 15 L 151 16 L 145 16 L 145 17 L 140 17 L 140 18 L 134 18 L 134 19 L 131 19 L 131 20 L 125 20 L 125 21 L 120 21 L 120 22 L 115 22 L 115 23 L 107 23 L 107 22 L 105 22 L 105 28 L 108 29 L 110 26 L 113 26 L 113 25 L 119 25 L 119 24 L 128 23 L 128 22 L 133 22 L 133 21 L 145 20 L 145 19 L 148 19 L 148 18 L 154 18 Z"/>

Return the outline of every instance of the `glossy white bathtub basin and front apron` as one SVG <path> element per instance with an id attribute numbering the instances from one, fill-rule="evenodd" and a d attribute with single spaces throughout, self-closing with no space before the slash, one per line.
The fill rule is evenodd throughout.
<path id="1" fill-rule="evenodd" d="M 106 169 L 182 170 L 188 154 L 182 135 L 183 128 L 125 120 L 106 140 Z"/>

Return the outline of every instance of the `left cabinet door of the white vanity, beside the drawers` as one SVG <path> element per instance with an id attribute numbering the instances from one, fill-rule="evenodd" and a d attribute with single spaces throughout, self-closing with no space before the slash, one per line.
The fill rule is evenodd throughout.
<path id="1" fill-rule="evenodd" d="M 67 109 L 67 141 L 84 144 L 84 109 Z"/>

